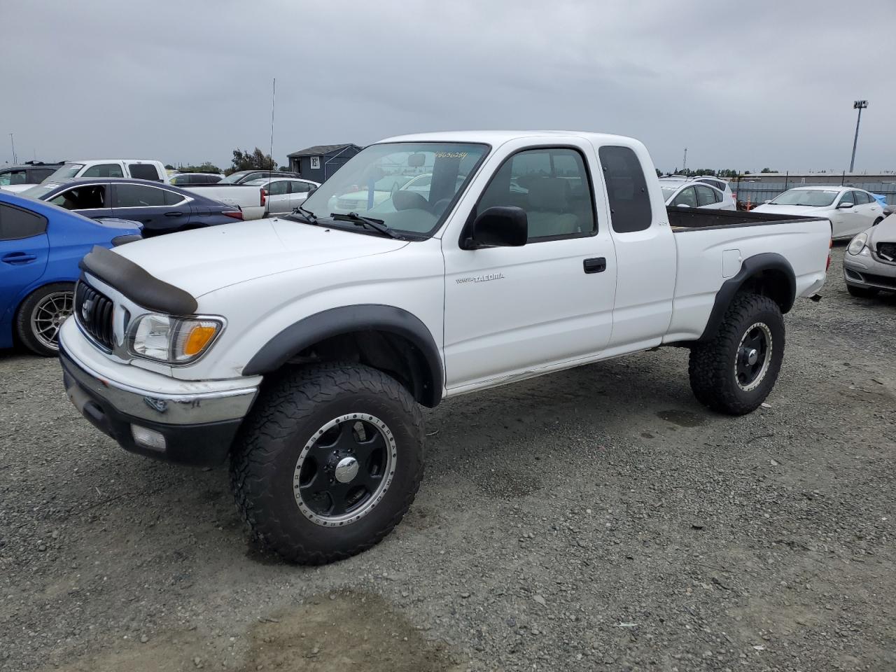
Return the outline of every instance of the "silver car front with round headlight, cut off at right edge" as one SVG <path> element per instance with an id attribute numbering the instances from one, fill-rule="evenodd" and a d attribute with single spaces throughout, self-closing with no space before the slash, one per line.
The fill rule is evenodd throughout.
<path id="1" fill-rule="evenodd" d="M 854 297 L 896 292 L 896 215 L 850 241 L 843 256 L 843 280 Z"/>

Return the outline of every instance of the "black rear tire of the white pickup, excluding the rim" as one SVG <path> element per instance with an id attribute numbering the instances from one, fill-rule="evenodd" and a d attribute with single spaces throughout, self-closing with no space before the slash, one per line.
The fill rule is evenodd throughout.
<path id="1" fill-rule="evenodd" d="M 740 345 L 751 326 L 764 324 L 771 332 L 768 367 L 754 389 L 737 382 Z M 784 357 L 784 317 L 769 297 L 737 294 L 725 311 L 712 340 L 691 349 L 688 375 L 694 396 L 704 406 L 728 415 L 745 415 L 759 408 L 778 379 Z"/>

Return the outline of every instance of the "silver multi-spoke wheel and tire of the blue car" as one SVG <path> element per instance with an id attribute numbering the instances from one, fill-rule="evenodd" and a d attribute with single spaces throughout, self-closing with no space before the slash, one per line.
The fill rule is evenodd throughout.
<path id="1" fill-rule="evenodd" d="M 59 352 L 59 328 L 72 314 L 74 285 L 54 282 L 35 289 L 22 301 L 16 314 L 15 326 L 19 340 L 26 348 L 44 357 L 56 357 Z"/>

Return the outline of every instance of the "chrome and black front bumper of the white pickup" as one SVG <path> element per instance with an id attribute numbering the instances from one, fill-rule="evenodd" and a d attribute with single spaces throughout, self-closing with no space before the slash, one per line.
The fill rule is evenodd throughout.
<path id="1" fill-rule="evenodd" d="M 183 383 L 163 375 L 157 375 L 154 389 L 142 389 L 98 373 L 62 343 L 59 361 L 69 400 L 93 426 L 126 451 L 177 464 L 225 461 L 258 392 L 257 384 L 237 380 L 204 383 L 217 389 L 185 393 L 177 389 Z"/>

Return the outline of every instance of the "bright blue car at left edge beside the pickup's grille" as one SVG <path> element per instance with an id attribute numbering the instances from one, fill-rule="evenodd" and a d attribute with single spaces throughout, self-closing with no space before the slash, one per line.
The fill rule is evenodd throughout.
<path id="1" fill-rule="evenodd" d="M 89 220 L 50 203 L 0 190 L 0 348 L 18 339 L 54 357 L 71 314 L 78 262 L 93 246 L 141 238 L 134 221 Z"/>

